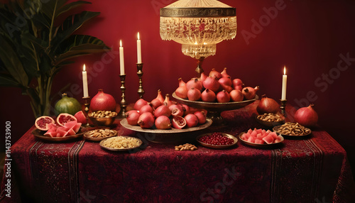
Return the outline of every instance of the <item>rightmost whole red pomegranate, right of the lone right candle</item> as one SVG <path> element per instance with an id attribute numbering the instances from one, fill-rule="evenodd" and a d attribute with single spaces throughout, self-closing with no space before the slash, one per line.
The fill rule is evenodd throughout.
<path id="1" fill-rule="evenodd" d="M 310 106 L 298 109 L 295 113 L 295 121 L 302 126 L 315 126 L 318 121 L 318 114 L 313 106 L 314 104 L 310 104 Z"/>

